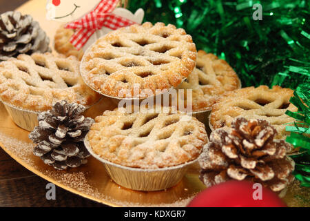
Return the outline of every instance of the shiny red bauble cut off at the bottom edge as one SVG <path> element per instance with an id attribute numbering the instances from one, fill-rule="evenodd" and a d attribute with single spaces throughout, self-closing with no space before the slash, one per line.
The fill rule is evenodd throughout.
<path id="1" fill-rule="evenodd" d="M 276 193 L 260 184 L 230 180 L 199 193 L 192 202 L 189 202 L 188 207 L 286 207 L 286 205 Z"/>

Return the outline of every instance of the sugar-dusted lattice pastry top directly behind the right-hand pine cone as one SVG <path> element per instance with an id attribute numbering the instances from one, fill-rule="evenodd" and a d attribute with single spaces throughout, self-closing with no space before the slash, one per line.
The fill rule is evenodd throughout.
<path id="1" fill-rule="evenodd" d="M 289 102 L 293 90 L 273 86 L 249 87 L 231 91 L 221 97 L 212 107 L 209 124 L 212 129 L 231 126 L 238 116 L 246 119 L 265 119 L 278 131 L 276 138 L 284 138 L 287 133 L 285 124 L 293 123 L 293 118 L 285 111 L 297 111 Z"/>

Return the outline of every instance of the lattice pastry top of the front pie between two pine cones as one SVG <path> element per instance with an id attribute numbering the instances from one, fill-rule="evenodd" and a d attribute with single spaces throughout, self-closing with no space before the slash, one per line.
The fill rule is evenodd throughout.
<path id="1" fill-rule="evenodd" d="M 127 113 L 124 108 L 96 117 L 87 134 L 104 160 L 143 169 L 195 160 L 208 142 L 203 123 L 184 113 Z"/>

